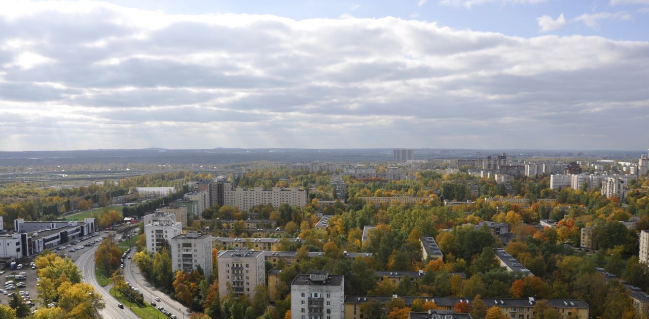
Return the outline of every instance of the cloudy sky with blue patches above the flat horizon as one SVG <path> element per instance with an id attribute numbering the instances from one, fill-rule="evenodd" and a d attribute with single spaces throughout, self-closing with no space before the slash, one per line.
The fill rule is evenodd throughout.
<path id="1" fill-rule="evenodd" d="M 0 150 L 646 149 L 649 0 L 3 1 Z"/>

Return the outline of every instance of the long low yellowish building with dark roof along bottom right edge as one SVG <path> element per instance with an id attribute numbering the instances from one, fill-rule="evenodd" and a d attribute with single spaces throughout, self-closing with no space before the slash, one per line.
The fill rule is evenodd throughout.
<path id="1" fill-rule="evenodd" d="M 361 311 L 361 305 L 369 300 L 377 300 L 382 304 L 390 301 L 391 296 L 346 296 L 345 297 L 345 319 L 368 319 Z M 417 298 L 426 301 L 433 301 L 440 310 L 452 310 L 455 304 L 464 301 L 472 304 L 473 298 L 451 298 L 451 297 L 398 297 L 406 303 L 407 307 L 412 305 L 413 301 Z M 482 301 L 487 307 L 498 307 L 507 318 L 534 318 L 534 306 L 537 300 L 534 298 L 482 298 Z M 588 319 L 590 308 L 587 303 L 582 300 L 569 300 L 569 299 L 550 299 L 547 300 L 548 305 L 559 313 L 559 318 L 577 318 Z"/>

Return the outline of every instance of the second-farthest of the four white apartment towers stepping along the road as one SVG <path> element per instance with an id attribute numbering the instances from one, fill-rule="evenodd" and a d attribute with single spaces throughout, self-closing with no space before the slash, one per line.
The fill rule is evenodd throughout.
<path id="1" fill-rule="evenodd" d="M 187 231 L 171 238 L 171 269 L 193 272 L 201 266 L 205 277 L 212 275 L 212 236 Z"/>

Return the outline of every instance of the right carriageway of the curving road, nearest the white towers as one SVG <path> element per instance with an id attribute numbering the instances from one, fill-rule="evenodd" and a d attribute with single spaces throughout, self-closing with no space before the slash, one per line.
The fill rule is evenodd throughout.
<path id="1" fill-rule="evenodd" d="M 132 251 L 129 253 L 129 257 L 132 257 L 133 254 L 135 253 L 135 249 L 132 249 Z M 136 286 L 138 289 L 140 289 L 140 292 L 144 296 L 144 300 L 147 301 L 148 303 L 151 303 L 153 300 L 155 303 L 157 303 L 157 307 L 164 307 L 165 310 L 171 312 L 171 314 L 175 314 L 178 319 L 180 318 L 189 318 L 190 313 L 187 313 L 187 307 L 179 303 L 178 301 L 175 301 L 171 299 L 170 296 L 167 294 L 164 294 L 164 292 L 161 292 L 160 290 L 157 290 L 153 285 L 148 283 L 146 279 L 144 279 L 143 275 L 140 274 L 140 268 L 135 264 L 135 262 L 132 261 L 132 259 L 125 259 L 124 260 L 124 279 L 130 283 L 130 285 Z M 155 301 L 154 298 L 160 298 L 160 301 Z M 160 318 L 167 318 L 164 316 L 164 314 L 160 313 L 161 316 Z"/>

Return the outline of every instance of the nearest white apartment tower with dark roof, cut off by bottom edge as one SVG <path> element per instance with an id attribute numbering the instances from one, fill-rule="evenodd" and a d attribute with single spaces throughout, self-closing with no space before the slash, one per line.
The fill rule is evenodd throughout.
<path id="1" fill-rule="evenodd" d="M 291 319 L 345 318 L 345 276 L 312 271 L 291 282 Z"/>

